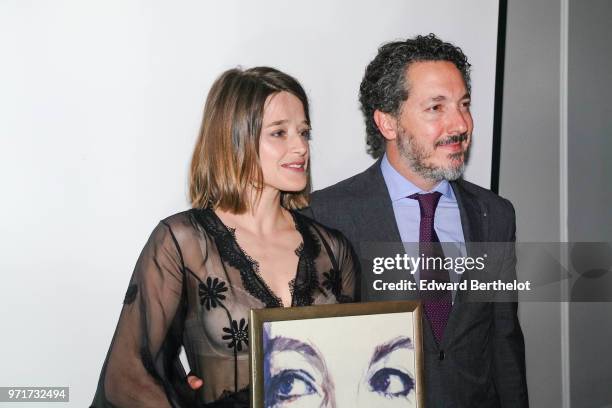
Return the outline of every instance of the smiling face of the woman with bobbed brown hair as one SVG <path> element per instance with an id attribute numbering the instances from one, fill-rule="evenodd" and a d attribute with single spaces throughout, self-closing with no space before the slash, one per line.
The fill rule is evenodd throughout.
<path id="1" fill-rule="evenodd" d="M 309 138 L 310 125 L 302 102 L 289 92 L 270 95 L 259 139 L 264 188 L 294 192 L 306 187 Z"/>

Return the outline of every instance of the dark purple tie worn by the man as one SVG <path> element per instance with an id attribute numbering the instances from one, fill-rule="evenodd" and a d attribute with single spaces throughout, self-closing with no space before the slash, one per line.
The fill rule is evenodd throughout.
<path id="1" fill-rule="evenodd" d="M 423 258 L 434 258 L 441 257 L 444 259 L 444 252 L 438 239 L 438 234 L 434 229 L 434 214 L 436 207 L 440 201 L 441 193 L 435 191 L 428 194 L 413 194 L 408 196 L 413 200 L 419 202 L 421 208 L 421 225 L 419 227 L 419 249 Z M 424 260 L 423 260 L 424 262 Z M 439 262 L 436 262 L 439 263 Z M 429 268 L 421 267 L 420 280 L 426 280 L 428 282 L 450 282 L 448 271 L 446 269 L 436 269 L 435 265 L 430 265 Z M 431 329 L 433 330 L 434 337 L 438 344 L 444 334 L 446 328 L 446 322 L 450 315 L 452 307 L 452 293 L 450 290 L 428 290 L 421 294 L 423 299 L 423 309 L 429 323 L 431 323 Z"/>

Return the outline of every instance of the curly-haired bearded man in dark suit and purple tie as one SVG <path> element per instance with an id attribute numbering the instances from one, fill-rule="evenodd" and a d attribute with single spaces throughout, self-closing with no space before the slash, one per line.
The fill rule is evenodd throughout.
<path id="1" fill-rule="evenodd" d="M 512 204 L 460 179 L 473 130 L 469 68 L 459 48 L 433 34 L 385 44 L 367 67 L 360 102 L 369 152 L 379 160 L 311 201 L 312 216 L 342 231 L 360 257 L 368 242 L 514 242 Z M 435 232 L 424 211 L 433 212 Z M 511 247 L 491 260 L 504 280 L 516 275 Z M 362 300 L 397 298 L 373 293 L 372 271 L 362 274 Z M 446 314 L 424 305 L 427 406 L 528 406 L 517 304 L 449 296 Z"/>

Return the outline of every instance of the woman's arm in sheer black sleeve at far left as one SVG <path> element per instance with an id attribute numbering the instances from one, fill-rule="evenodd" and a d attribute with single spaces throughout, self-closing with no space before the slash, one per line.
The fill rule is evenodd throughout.
<path id="1" fill-rule="evenodd" d="M 191 405 L 190 393 L 180 385 L 185 373 L 178 359 L 183 279 L 180 247 L 162 221 L 136 263 L 93 407 Z"/>

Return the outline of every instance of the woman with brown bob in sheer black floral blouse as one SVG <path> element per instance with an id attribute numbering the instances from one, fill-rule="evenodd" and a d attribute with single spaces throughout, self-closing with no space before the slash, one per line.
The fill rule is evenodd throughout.
<path id="1" fill-rule="evenodd" d="M 295 211 L 308 202 L 309 134 L 294 78 L 257 67 L 217 79 L 191 163 L 193 209 L 161 221 L 143 249 L 94 407 L 247 407 L 249 310 L 353 299 L 350 244 Z M 204 380 L 197 395 L 181 345 Z"/>

